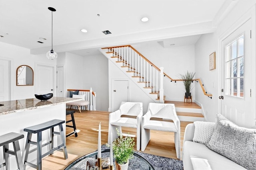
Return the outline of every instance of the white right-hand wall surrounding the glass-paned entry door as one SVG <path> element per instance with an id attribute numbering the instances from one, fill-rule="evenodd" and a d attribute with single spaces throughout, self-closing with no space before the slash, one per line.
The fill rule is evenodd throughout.
<path id="1" fill-rule="evenodd" d="M 220 39 L 228 34 L 232 33 L 232 30 L 238 25 L 240 25 L 244 21 L 244 14 L 251 15 L 253 17 L 252 22 L 252 41 L 254 42 L 253 48 L 253 63 L 252 68 L 252 77 L 255 77 L 256 70 L 256 62 L 255 62 L 255 0 L 252 1 L 238 1 L 232 2 L 237 3 L 232 10 L 230 10 L 225 16 L 224 20 L 222 20 L 215 33 L 202 35 L 198 42 L 195 45 L 195 68 L 196 72 L 201 75 L 201 79 L 205 84 L 206 90 L 211 93 L 212 99 L 204 96 L 198 87 L 196 87 L 196 102 L 199 102 L 204 106 L 204 111 L 207 113 L 206 120 L 207 121 L 215 121 L 215 116 L 217 112 L 220 112 L 220 100 L 218 96 L 220 96 L 221 87 L 220 87 L 220 53 L 219 53 L 219 43 Z M 247 15 L 246 14 L 246 15 Z M 209 70 L 209 55 L 216 51 L 216 70 Z M 201 64 L 202 63 L 202 64 Z M 252 80 L 252 98 L 254 106 L 252 106 L 252 113 L 255 113 L 255 78 Z M 255 117 L 255 116 L 254 116 Z"/>

